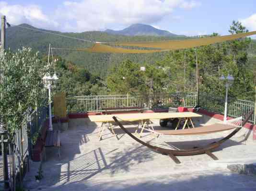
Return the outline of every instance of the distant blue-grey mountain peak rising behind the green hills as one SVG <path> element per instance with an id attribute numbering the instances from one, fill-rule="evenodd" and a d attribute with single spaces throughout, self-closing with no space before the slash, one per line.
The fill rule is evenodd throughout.
<path id="1" fill-rule="evenodd" d="M 119 35 L 126 35 L 126 36 L 180 36 L 168 31 L 159 30 L 151 25 L 147 24 L 132 24 L 131 26 L 121 30 L 121 31 L 114 31 L 111 29 L 105 30 L 105 32 L 109 34 L 119 34 Z"/>

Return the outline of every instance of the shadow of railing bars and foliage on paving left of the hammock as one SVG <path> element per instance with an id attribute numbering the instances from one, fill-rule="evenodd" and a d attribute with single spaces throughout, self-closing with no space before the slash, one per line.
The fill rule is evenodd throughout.
<path id="1" fill-rule="evenodd" d="M 54 148 L 48 149 L 47 161 L 43 163 L 44 178 L 39 183 L 36 183 L 33 180 L 31 181 L 34 178 L 31 177 L 30 180 L 24 182 L 25 188 L 31 190 L 41 186 L 66 185 L 90 180 L 98 174 L 101 174 L 100 176 L 106 174 L 108 177 L 113 177 L 115 173 L 127 172 L 133 165 L 152 159 L 152 152 L 143 146 L 138 147 L 138 145 L 137 147 L 121 150 L 114 146 L 112 150 L 106 153 L 103 153 L 100 147 L 85 151 L 84 149 L 87 147 L 83 146 L 83 144 L 90 142 L 90 137 L 87 136 L 87 133 L 92 135 L 94 132 L 86 129 L 86 127 L 72 128 L 64 132 L 62 138 L 65 139 L 65 142 L 62 144 L 61 159 L 58 160 Z M 102 141 L 99 143 L 94 140 L 91 144 L 101 145 L 103 143 Z M 105 159 L 106 156 L 108 162 Z"/>

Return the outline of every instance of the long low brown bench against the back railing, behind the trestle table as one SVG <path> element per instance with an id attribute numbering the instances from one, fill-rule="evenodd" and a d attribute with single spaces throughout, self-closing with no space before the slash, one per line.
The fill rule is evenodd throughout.
<path id="1" fill-rule="evenodd" d="M 104 115 L 116 114 L 116 113 L 142 113 L 148 110 L 145 107 L 104 107 L 102 113 Z"/>

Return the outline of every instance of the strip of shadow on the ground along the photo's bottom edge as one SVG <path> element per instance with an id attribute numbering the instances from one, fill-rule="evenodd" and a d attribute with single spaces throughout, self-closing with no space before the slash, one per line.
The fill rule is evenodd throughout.
<path id="1" fill-rule="evenodd" d="M 141 177 L 111 181 L 70 183 L 49 191 L 256 191 L 256 179 L 230 172 Z M 43 187 L 41 190 L 45 190 Z"/>

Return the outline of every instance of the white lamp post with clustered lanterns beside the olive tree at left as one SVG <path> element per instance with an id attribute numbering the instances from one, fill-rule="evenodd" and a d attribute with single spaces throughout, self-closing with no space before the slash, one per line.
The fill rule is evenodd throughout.
<path id="1" fill-rule="evenodd" d="M 57 75 L 54 73 L 53 76 L 50 76 L 50 74 L 45 74 L 43 77 L 43 81 L 45 84 L 45 87 L 49 91 L 49 130 L 52 131 L 52 109 L 51 109 L 51 88 L 55 86 L 56 81 L 58 80 Z M 53 85 L 52 85 L 53 84 Z"/>

